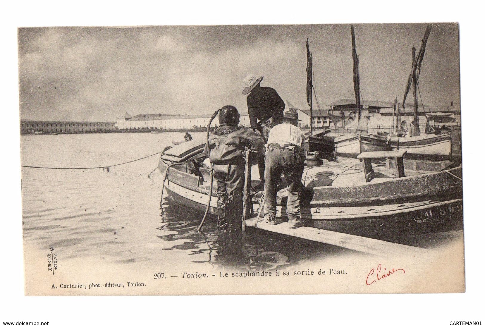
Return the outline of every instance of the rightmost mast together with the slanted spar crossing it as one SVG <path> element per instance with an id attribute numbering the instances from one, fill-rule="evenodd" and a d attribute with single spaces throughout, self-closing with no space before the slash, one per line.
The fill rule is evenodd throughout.
<path id="1" fill-rule="evenodd" d="M 409 78 L 407 78 L 407 85 L 406 90 L 404 92 L 404 99 L 403 99 L 403 109 L 405 108 L 404 103 L 406 102 L 407 93 L 411 88 L 411 84 L 413 85 L 413 96 L 414 96 L 414 133 L 412 136 L 419 136 L 420 129 L 419 129 L 419 120 L 418 120 L 418 85 L 419 85 L 419 77 L 421 72 L 421 62 L 424 59 L 424 51 L 426 50 L 426 42 L 428 42 L 429 34 L 431 33 L 431 25 L 426 27 L 426 31 L 424 32 L 423 39 L 421 40 L 421 48 L 418 54 L 416 55 L 416 48 L 413 47 L 413 65 L 411 68 L 411 74 Z"/>

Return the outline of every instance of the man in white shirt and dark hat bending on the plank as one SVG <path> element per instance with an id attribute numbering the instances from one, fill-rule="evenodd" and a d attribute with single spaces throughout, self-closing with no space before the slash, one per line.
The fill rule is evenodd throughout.
<path id="1" fill-rule="evenodd" d="M 276 192 L 281 179 L 285 175 L 288 184 L 288 201 L 286 213 L 290 229 L 302 226 L 300 218 L 300 198 L 303 189 L 302 174 L 305 163 L 305 135 L 297 127 L 298 113 L 285 112 L 283 123 L 275 125 L 266 143 L 266 158 L 264 161 L 264 218 L 270 225 L 276 224 Z"/>

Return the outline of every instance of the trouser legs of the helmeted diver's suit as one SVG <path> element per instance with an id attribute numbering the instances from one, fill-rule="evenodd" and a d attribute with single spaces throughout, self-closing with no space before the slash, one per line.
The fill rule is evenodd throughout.
<path id="1" fill-rule="evenodd" d="M 241 223 L 245 162 L 241 157 L 227 164 L 214 164 L 217 181 L 217 225 Z"/>

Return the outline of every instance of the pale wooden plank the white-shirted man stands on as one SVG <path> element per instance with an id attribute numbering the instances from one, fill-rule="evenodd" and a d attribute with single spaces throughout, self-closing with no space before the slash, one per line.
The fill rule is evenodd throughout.
<path id="1" fill-rule="evenodd" d="M 373 255 L 387 256 L 391 255 L 405 255 L 405 256 L 425 256 L 431 253 L 431 250 L 401 245 L 393 242 L 367 238 L 364 236 L 352 235 L 348 233 L 340 233 L 335 231 L 321 230 L 310 227 L 300 227 L 297 229 L 290 229 L 288 222 L 283 222 L 277 225 L 269 225 L 262 217 L 253 217 L 244 221 L 245 226 L 261 229 L 264 231 L 275 232 L 303 238 L 307 240 L 326 243 L 333 246 L 347 248 L 351 250 L 370 253 Z"/>

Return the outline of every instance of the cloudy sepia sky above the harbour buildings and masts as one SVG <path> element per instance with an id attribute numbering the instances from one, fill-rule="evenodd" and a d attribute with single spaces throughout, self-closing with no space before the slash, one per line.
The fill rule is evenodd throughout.
<path id="1" fill-rule="evenodd" d="M 421 65 L 422 101 L 459 106 L 458 25 L 432 26 Z M 402 101 L 412 47 L 419 50 L 425 29 L 355 25 L 364 104 Z M 20 28 L 20 117 L 115 121 L 125 111 L 204 114 L 224 105 L 247 112 L 242 80 L 249 74 L 264 76 L 261 86 L 307 109 L 307 37 L 320 108 L 354 98 L 348 24 Z"/>

